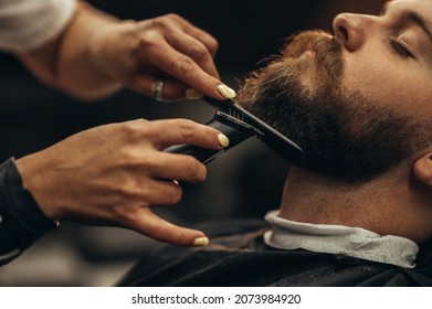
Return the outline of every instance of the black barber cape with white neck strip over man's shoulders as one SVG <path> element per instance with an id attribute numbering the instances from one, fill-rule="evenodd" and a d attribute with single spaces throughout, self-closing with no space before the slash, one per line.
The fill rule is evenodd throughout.
<path id="1" fill-rule="evenodd" d="M 299 233 L 305 230 L 304 224 L 285 222 L 281 225 L 275 215 L 271 213 L 266 217 L 272 230 L 266 222 L 255 220 L 197 226 L 210 237 L 209 246 L 166 245 L 143 257 L 118 285 L 432 286 L 432 241 L 418 247 L 405 238 L 380 237 L 366 230 L 341 227 L 336 228 L 336 236 L 341 236 L 338 246 L 334 226 L 325 228 L 324 235 L 319 232 L 322 226 L 318 226 L 319 233 L 315 227 Z M 366 242 L 359 242 L 365 237 Z M 314 238 L 319 241 L 314 242 Z M 361 244 L 358 251 L 356 245 L 349 245 L 349 239 Z"/>

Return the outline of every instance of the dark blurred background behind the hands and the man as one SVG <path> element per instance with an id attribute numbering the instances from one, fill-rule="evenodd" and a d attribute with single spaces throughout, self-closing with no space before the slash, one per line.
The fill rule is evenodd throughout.
<path id="1" fill-rule="evenodd" d="M 220 43 L 215 63 L 228 85 L 238 88 L 260 61 L 276 54 L 284 38 L 304 29 L 331 30 L 338 12 L 377 13 L 372 0 L 93 0 L 120 19 L 143 20 L 178 13 Z M 0 160 L 44 149 L 81 130 L 136 118 L 190 118 L 209 121 L 214 110 L 201 100 L 160 104 L 130 90 L 84 104 L 35 79 L 12 55 L 0 54 Z M 176 206 L 159 207 L 175 223 L 262 217 L 280 203 L 287 164 L 250 139 L 208 166 L 202 184 L 183 183 Z M 159 243 L 122 228 L 72 223 L 39 241 L 0 268 L 0 286 L 112 286 Z"/>

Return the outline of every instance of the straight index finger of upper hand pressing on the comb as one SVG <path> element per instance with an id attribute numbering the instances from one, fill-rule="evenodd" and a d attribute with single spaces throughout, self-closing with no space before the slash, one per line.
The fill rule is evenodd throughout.
<path id="1" fill-rule="evenodd" d="M 143 50 L 139 54 L 143 56 L 143 62 L 149 61 L 160 71 L 191 88 L 213 98 L 226 98 L 218 92 L 217 87 L 222 84 L 218 78 L 204 72 L 190 56 L 176 51 L 168 43 L 160 43 L 157 51 Z"/>

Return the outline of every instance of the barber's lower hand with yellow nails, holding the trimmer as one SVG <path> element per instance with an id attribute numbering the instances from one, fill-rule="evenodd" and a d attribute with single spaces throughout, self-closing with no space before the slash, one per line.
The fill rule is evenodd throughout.
<path id="1" fill-rule="evenodd" d="M 173 180 L 206 178 L 206 167 L 193 157 L 160 151 L 179 143 L 221 149 L 228 139 L 186 119 L 135 120 L 80 132 L 17 160 L 17 166 L 24 188 L 53 220 L 127 227 L 194 245 L 202 232 L 173 225 L 149 207 L 180 200 L 181 188 Z"/>

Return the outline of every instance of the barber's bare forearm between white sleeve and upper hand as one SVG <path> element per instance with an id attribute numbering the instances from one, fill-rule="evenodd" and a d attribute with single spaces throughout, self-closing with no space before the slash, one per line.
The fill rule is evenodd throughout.
<path id="1" fill-rule="evenodd" d="M 73 96 L 95 99 L 110 95 L 122 85 L 94 63 L 89 47 L 97 31 L 118 22 L 80 1 L 62 35 L 39 50 L 20 54 L 19 57 L 48 85 Z"/>

